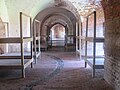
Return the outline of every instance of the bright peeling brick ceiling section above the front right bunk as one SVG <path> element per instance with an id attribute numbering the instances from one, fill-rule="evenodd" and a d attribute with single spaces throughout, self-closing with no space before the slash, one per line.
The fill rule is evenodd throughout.
<path id="1" fill-rule="evenodd" d="M 101 0 L 69 0 L 78 10 L 81 16 L 102 8 Z"/>

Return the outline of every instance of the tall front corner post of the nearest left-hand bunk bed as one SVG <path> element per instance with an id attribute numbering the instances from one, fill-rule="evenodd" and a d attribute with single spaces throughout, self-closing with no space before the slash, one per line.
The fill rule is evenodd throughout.
<path id="1" fill-rule="evenodd" d="M 21 38 L 21 65 L 22 65 L 22 77 L 25 77 L 24 69 L 24 45 L 23 45 L 23 33 L 22 33 L 22 12 L 20 12 L 20 38 Z"/>

